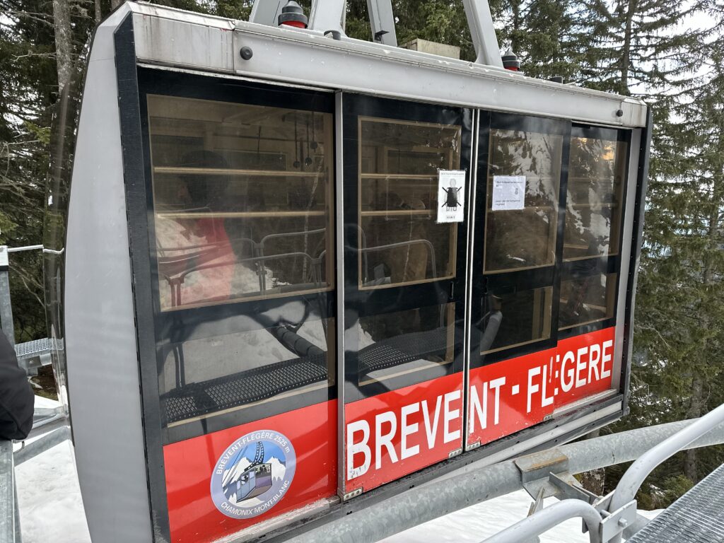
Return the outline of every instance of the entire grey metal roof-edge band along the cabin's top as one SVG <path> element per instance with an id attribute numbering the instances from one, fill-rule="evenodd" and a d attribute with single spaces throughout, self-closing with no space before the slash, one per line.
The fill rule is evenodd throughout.
<path id="1" fill-rule="evenodd" d="M 642 127 L 646 122 L 646 106 L 636 98 L 535 80 L 382 43 L 335 41 L 321 31 L 234 23 L 148 4 L 129 5 L 135 12 L 136 53 L 142 62 L 604 125 Z M 327 17 L 337 19 L 336 14 Z M 236 30 L 230 46 L 228 30 L 232 28 Z M 251 59 L 240 58 L 241 46 L 251 47 Z M 620 117 L 618 109 L 623 113 Z"/>

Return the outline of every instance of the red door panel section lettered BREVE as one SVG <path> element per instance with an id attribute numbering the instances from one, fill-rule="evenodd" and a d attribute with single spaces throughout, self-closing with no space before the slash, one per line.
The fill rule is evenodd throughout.
<path id="1" fill-rule="evenodd" d="M 459 373 L 345 405 L 345 492 L 445 460 L 462 447 L 462 416 Z"/>

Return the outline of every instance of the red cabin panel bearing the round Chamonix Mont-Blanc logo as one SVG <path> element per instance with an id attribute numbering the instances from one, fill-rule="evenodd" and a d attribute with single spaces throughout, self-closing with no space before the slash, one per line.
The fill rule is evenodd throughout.
<path id="1" fill-rule="evenodd" d="M 172 542 L 214 541 L 336 494 L 336 410 L 334 400 L 166 445 L 164 469 Z M 227 500 L 221 482 L 232 479 L 235 467 L 243 471 L 248 466 L 247 460 L 240 460 L 245 455 L 253 463 L 259 442 L 266 447 L 266 458 L 261 459 L 261 471 L 252 475 L 257 486 L 247 494 L 251 498 L 240 501 L 245 508 L 237 508 L 236 494 L 233 501 Z M 277 473 L 278 460 L 286 466 L 283 476 Z M 264 473 L 267 465 L 269 472 Z M 249 485 L 248 474 L 236 479 L 240 490 L 235 492 L 245 492 L 243 483 Z M 216 503 L 211 497 L 214 484 L 220 498 Z M 255 496 L 254 492 L 261 493 Z M 240 515 L 245 518 L 238 518 Z"/>

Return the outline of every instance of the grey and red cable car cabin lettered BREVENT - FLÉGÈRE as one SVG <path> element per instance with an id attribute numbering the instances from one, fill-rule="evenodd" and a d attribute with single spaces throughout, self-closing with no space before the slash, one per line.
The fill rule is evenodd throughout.
<path id="1" fill-rule="evenodd" d="M 504 70 L 473 1 L 479 62 L 271 4 L 96 31 L 64 292 L 94 542 L 284 539 L 626 413 L 647 106 Z"/>

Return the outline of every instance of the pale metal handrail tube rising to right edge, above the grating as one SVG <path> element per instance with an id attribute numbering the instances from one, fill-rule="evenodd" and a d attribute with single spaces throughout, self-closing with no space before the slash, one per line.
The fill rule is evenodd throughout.
<path id="1" fill-rule="evenodd" d="M 643 484 L 644 479 L 646 479 L 649 473 L 660 463 L 670 456 L 675 455 L 675 453 L 683 448 L 686 448 L 687 445 L 690 445 L 697 438 L 702 437 L 723 422 L 724 404 L 713 409 L 701 418 L 696 419 L 691 424 L 673 434 L 673 436 L 664 439 L 656 445 L 656 447 L 644 452 L 644 454 L 626 470 L 626 473 L 623 473 L 623 477 L 618 481 L 618 485 L 613 492 L 613 497 L 611 497 L 609 511 L 613 512 L 633 500 L 633 498 L 636 497 L 636 492 L 639 491 L 641 484 Z"/>

